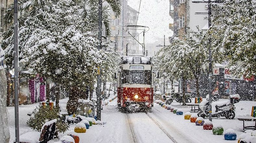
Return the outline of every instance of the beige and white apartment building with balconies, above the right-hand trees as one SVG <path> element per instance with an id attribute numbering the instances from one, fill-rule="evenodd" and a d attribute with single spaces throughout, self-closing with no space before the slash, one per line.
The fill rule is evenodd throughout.
<path id="1" fill-rule="evenodd" d="M 198 31 L 208 28 L 208 12 L 206 3 L 193 3 L 195 0 L 170 0 L 169 14 L 173 18 L 173 23 L 169 28 L 173 31 L 173 36 L 169 37 L 170 42 L 174 37 L 180 39 L 189 34 L 190 30 Z"/>

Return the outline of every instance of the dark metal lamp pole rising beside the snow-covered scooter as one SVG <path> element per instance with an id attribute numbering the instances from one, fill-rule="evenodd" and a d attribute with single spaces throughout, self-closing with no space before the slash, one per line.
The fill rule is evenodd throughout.
<path id="1" fill-rule="evenodd" d="M 208 27 L 211 27 L 211 0 L 208 0 Z M 211 121 L 211 82 L 212 82 L 212 59 L 211 59 L 211 38 L 209 38 L 209 89 L 208 89 L 208 94 L 209 94 L 209 120 Z"/>

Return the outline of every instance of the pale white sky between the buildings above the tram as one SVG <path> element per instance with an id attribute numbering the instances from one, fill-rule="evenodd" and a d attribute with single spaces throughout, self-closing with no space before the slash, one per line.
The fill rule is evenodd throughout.
<path id="1" fill-rule="evenodd" d="M 128 0 L 128 5 L 137 11 L 139 10 L 139 4 L 140 0 Z M 154 43 L 159 38 L 163 39 L 164 35 L 165 41 L 169 43 L 168 37 L 173 35 L 173 31 L 169 29 L 169 23 L 173 23 L 173 19 L 169 15 L 169 9 L 169 0 L 141 0 L 137 25 L 150 28 L 145 36 L 146 44 Z"/>

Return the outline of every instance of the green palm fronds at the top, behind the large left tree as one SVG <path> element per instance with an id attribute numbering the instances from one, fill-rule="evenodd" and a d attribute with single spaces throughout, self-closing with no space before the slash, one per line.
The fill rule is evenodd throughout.
<path id="1" fill-rule="evenodd" d="M 72 0 L 77 5 L 83 5 L 83 11 L 81 15 L 83 18 L 89 19 L 89 22 L 86 22 L 87 30 L 97 31 L 97 12 L 98 12 L 98 0 Z M 24 21 L 31 15 L 36 15 L 38 9 L 48 10 L 51 8 L 51 4 L 56 4 L 58 0 L 19 0 L 19 11 L 22 11 L 23 14 L 19 17 L 19 25 L 23 25 Z M 116 14 L 116 17 L 121 15 L 122 9 L 122 0 L 103 0 L 103 3 L 106 2 L 107 5 L 104 5 L 102 8 L 102 21 L 104 26 L 106 27 L 106 36 L 110 35 L 110 19 L 109 19 L 109 10 L 110 8 Z M 110 8 L 109 8 L 110 7 Z M 13 33 L 13 11 L 14 4 L 11 4 L 5 12 L 5 16 L 3 19 L 3 25 L 10 27 L 9 32 L 4 33 L 3 37 L 9 37 L 10 34 Z"/>

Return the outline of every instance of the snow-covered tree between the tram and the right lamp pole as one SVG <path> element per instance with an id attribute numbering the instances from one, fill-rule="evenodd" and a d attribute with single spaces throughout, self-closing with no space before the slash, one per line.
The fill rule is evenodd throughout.
<path id="1" fill-rule="evenodd" d="M 163 47 L 158 53 L 158 69 L 166 73 L 170 80 L 181 78 L 196 80 L 196 91 L 199 96 L 199 77 L 202 66 L 205 64 L 207 49 L 202 42 L 202 31 L 193 32 L 192 36 L 183 39 L 174 39 L 170 46 Z M 183 84 L 185 91 L 185 84 Z M 185 94 L 185 93 L 184 93 Z"/>

